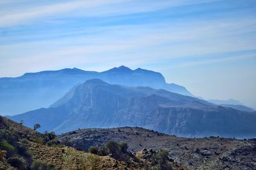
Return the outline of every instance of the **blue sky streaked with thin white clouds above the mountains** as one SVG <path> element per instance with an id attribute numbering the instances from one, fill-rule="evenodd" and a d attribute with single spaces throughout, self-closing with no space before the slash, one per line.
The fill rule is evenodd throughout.
<path id="1" fill-rule="evenodd" d="M 121 65 L 256 108 L 256 1 L 0 1 L 0 77 Z"/>

